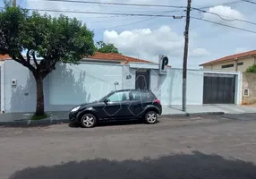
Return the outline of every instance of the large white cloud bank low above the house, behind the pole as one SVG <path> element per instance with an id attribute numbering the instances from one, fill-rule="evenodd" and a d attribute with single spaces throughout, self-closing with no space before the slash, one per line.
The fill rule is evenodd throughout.
<path id="1" fill-rule="evenodd" d="M 176 34 L 170 27 L 161 26 L 158 30 L 141 29 L 126 30 L 117 33 L 115 30 L 104 32 L 104 41 L 115 44 L 124 55 L 140 57 L 152 62 L 158 62 L 158 55 L 168 55 L 177 64 L 183 59 L 183 36 Z M 209 55 L 204 48 L 190 47 L 191 57 Z M 175 61 L 172 62 L 174 65 Z"/>

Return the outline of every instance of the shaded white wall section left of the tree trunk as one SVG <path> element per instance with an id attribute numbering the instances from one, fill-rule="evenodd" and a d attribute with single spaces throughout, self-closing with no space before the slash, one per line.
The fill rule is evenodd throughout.
<path id="1" fill-rule="evenodd" d="M 12 80 L 17 81 L 12 86 Z M 1 69 L 1 110 L 4 112 L 30 112 L 36 110 L 36 81 L 32 73 L 13 60 L 6 60 Z M 47 79 L 44 80 L 45 96 Z"/>

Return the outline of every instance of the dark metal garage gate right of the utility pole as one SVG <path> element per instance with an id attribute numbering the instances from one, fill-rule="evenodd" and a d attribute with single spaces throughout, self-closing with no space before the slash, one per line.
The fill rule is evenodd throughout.
<path id="1" fill-rule="evenodd" d="M 235 75 L 205 73 L 203 104 L 234 104 Z"/>

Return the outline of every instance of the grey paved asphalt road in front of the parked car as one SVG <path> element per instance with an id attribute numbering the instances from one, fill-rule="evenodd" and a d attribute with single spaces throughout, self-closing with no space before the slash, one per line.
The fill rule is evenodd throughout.
<path id="1" fill-rule="evenodd" d="M 256 178 L 256 121 L 0 127 L 0 178 Z"/>

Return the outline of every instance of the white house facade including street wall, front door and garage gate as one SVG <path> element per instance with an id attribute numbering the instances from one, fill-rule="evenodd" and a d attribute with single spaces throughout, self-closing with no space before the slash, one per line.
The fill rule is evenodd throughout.
<path id="1" fill-rule="evenodd" d="M 83 59 L 79 64 L 56 64 L 55 71 L 44 79 L 47 111 L 67 111 L 78 104 L 98 100 L 110 91 L 126 89 L 149 89 L 164 106 L 182 105 L 182 69 L 166 66 L 163 74 L 159 70 L 162 65 L 136 61 L 129 56 L 93 59 Z M 187 105 L 239 105 L 241 85 L 241 72 L 188 70 Z M 11 59 L 2 61 L 1 111 L 34 112 L 35 109 L 36 82 L 31 72 Z"/>

